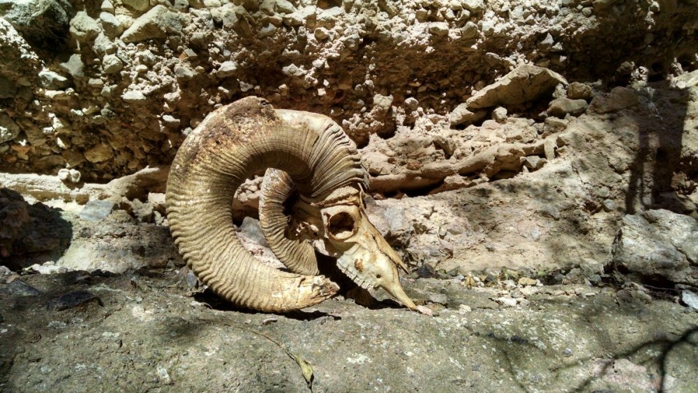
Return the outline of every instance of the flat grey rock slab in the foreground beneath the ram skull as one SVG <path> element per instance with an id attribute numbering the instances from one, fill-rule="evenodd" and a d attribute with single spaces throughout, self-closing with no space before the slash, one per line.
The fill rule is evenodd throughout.
<path id="1" fill-rule="evenodd" d="M 274 315 L 230 309 L 186 275 L 68 272 L 0 284 L 0 390 L 698 387 L 698 312 L 674 292 L 512 280 L 468 289 L 459 279 L 420 278 L 404 285 L 436 316 L 343 298 Z M 503 296 L 525 302 L 500 305 Z"/>

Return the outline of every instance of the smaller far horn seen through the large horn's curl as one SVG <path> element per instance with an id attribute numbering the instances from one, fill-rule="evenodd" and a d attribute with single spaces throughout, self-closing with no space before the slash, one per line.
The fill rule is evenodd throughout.
<path id="1" fill-rule="evenodd" d="M 290 176 L 279 169 L 267 169 L 260 189 L 260 224 L 269 248 L 291 272 L 318 275 L 318 259 L 313 246 L 306 240 L 284 236 L 288 217 L 283 213 L 283 203 L 293 191 Z"/>

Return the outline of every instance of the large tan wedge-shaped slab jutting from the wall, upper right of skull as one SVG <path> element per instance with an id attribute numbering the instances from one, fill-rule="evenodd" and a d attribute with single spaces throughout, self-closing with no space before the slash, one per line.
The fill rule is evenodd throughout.
<path id="1" fill-rule="evenodd" d="M 526 64 L 468 98 L 467 108 L 482 109 L 496 105 L 516 105 L 551 94 L 557 84 L 567 79 L 547 68 Z"/>

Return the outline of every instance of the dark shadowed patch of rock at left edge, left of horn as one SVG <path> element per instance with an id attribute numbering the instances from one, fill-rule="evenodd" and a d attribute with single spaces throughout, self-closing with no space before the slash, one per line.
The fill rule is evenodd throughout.
<path id="1" fill-rule="evenodd" d="M 73 226 L 62 210 L 31 205 L 17 192 L 0 188 L 0 263 L 21 270 L 57 261 L 70 245 Z"/>

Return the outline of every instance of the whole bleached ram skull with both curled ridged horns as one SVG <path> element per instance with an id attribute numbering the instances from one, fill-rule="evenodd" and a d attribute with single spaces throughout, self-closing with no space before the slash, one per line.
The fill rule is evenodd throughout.
<path id="1" fill-rule="evenodd" d="M 290 270 L 256 261 L 237 239 L 232 197 L 267 168 L 260 221 L 269 247 Z M 326 116 L 274 109 L 248 97 L 220 107 L 188 135 L 170 169 L 168 222 L 187 264 L 221 297 L 261 311 L 291 311 L 325 300 L 339 287 L 318 275 L 307 240 L 321 240 L 339 268 L 364 288 L 385 288 L 417 309 L 404 293 L 399 256 L 366 217 L 368 183 L 356 146 Z M 284 214 L 297 192 L 292 218 Z"/>

